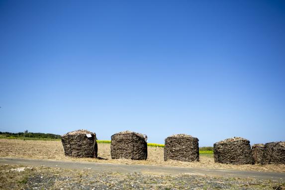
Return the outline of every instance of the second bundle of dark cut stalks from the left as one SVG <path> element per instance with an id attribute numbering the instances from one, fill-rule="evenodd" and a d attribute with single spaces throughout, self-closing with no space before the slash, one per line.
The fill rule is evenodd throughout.
<path id="1" fill-rule="evenodd" d="M 147 136 L 123 131 L 111 136 L 111 158 L 112 159 L 147 159 Z"/>

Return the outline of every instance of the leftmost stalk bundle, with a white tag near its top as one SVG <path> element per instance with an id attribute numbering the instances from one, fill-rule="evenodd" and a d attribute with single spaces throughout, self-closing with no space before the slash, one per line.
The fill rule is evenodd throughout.
<path id="1" fill-rule="evenodd" d="M 88 130 L 77 130 L 61 136 L 66 156 L 78 158 L 97 157 L 96 134 Z"/>

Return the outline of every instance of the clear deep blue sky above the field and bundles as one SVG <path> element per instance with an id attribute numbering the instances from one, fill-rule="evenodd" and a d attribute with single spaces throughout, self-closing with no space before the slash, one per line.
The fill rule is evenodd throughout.
<path id="1" fill-rule="evenodd" d="M 0 0 L 0 131 L 285 140 L 284 0 Z"/>

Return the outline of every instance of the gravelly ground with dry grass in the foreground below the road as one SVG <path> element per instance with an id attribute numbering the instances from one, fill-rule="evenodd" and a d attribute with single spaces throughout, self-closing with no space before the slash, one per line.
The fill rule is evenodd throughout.
<path id="1" fill-rule="evenodd" d="M 96 173 L 43 167 L 0 165 L 0 189 L 22 190 L 201 190 L 285 189 L 284 181 L 206 176 L 144 175 L 139 173 Z"/>

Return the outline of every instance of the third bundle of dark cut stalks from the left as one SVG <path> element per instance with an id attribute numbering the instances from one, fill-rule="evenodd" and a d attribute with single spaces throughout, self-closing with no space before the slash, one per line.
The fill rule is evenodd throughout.
<path id="1" fill-rule="evenodd" d="M 186 134 L 172 135 L 165 139 L 164 161 L 199 161 L 198 139 Z"/>

